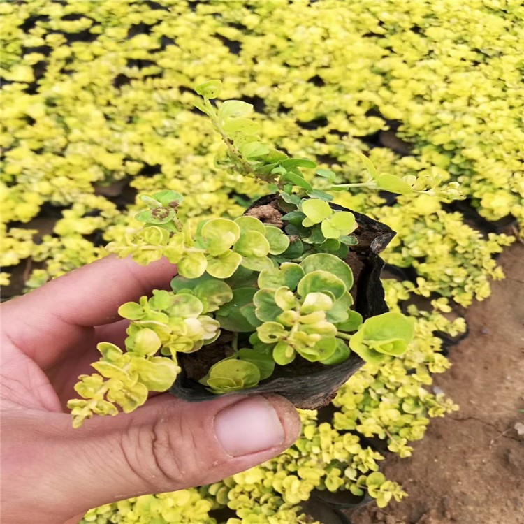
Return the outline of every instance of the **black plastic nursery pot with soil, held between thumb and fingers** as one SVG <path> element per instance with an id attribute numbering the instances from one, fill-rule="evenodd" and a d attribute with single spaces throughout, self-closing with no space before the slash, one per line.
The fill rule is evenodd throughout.
<path id="1" fill-rule="evenodd" d="M 332 205 L 335 210 L 346 210 L 339 205 Z M 272 224 L 278 222 L 285 212 L 279 210 L 276 195 L 268 195 L 256 201 L 247 214 L 256 214 L 264 221 L 267 215 Z M 351 246 L 346 262 L 354 273 L 354 286 L 351 295 L 354 298 L 354 308 L 364 319 L 388 311 L 384 301 L 384 289 L 380 282 L 380 272 L 384 261 L 378 256 L 384 247 L 391 242 L 395 232 L 385 224 L 366 217 L 354 211 L 358 228 L 353 233 L 358 239 L 358 245 Z M 282 221 L 281 221 L 282 223 Z M 212 344 L 210 344 L 212 346 Z M 191 367 L 194 359 L 205 358 L 208 346 L 191 354 L 180 354 L 179 364 L 182 372 L 177 377 L 175 384 L 170 388 L 170 393 L 187 400 L 188 402 L 201 402 L 217 398 L 205 386 L 188 377 L 184 366 Z M 277 393 L 289 399 L 296 407 L 303 409 L 318 409 L 327 405 L 336 395 L 338 388 L 354 374 L 364 361 L 356 354 L 351 354 L 349 359 L 340 365 L 326 366 L 321 363 L 312 363 L 303 358 L 296 358 L 293 363 L 286 366 L 277 366 L 275 373 L 259 386 L 243 390 L 242 393 Z M 226 393 L 231 395 L 234 393 Z"/>

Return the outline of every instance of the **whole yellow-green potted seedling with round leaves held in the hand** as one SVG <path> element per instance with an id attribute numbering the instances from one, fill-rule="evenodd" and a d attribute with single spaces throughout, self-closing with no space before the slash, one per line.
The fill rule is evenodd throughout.
<path id="1" fill-rule="evenodd" d="M 213 344 L 225 348 L 224 358 L 199 382 L 221 395 L 253 388 L 296 359 L 337 366 L 354 352 L 376 363 L 400 356 L 412 340 L 412 319 L 387 312 L 363 321 L 354 310 L 354 275 L 345 259 L 358 242 L 358 224 L 353 213 L 335 210 L 330 201 L 333 191 L 351 187 L 452 197 L 454 184 L 442 189 L 438 180 L 379 174 L 365 156 L 368 180 L 337 184 L 332 170 L 263 143 L 249 118 L 252 105 L 214 103 L 220 91 L 219 80 L 196 87 L 202 97 L 196 107 L 224 140 L 217 162 L 270 184 L 282 213 L 205 219 L 194 229 L 178 216 L 181 194 L 140 196 L 145 210 L 136 219 L 143 228 L 107 249 L 142 265 L 166 257 L 177 275 L 172 291 L 154 290 L 119 307 L 129 320 L 125 348 L 98 344 L 96 372 L 79 377 L 75 391 L 81 398 L 68 402 L 75 428 L 94 414 L 132 412 L 148 393 L 168 391 L 181 372 L 180 354 Z M 315 170 L 312 183 L 304 169 Z"/>

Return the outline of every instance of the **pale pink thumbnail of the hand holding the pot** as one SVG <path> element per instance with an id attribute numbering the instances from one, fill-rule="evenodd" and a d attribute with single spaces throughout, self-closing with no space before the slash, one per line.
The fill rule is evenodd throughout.
<path id="1" fill-rule="evenodd" d="M 249 397 L 223 409 L 214 419 L 214 432 L 233 457 L 279 446 L 285 436 L 275 408 L 264 397 Z"/>

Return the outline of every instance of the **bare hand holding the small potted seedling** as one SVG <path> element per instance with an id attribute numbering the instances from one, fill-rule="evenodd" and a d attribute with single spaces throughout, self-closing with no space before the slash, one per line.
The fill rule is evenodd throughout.
<path id="1" fill-rule="evenodd" d="M 300 433 L 277 395 L 188 404 L 157 394 L 73 430 L 66 409 L 98 342 L 123 347 L 119 305 L 169 289 L 174 266 L 108 256 L 0 308 L 3 524 L 78 523 L 92 507 L 219 481 L 276 456 Z"/>

